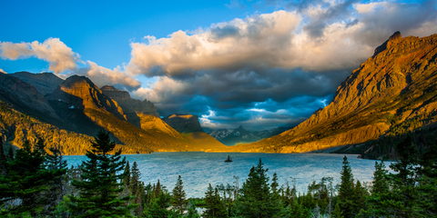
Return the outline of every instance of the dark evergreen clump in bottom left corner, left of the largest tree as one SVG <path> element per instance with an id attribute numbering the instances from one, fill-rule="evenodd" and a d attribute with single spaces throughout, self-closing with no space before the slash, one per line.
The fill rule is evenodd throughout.
<path id="1" fill-rule="evenodd" d="M 66 163 L 57 150 L 51 151 L 54 154 L 46 154 L 40 138 L 34 149 L 25 141 L 15 156 L 2 158 L 5 172 L 0 175 L 0 202 L 5 210 L 1 213 L 36 216 L 53 212 L 56 196 L 62 193 L 59 182 L 66 173 Z"/>

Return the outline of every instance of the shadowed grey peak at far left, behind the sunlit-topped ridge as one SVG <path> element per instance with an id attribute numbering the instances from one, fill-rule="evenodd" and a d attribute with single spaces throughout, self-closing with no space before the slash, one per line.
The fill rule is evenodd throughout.
<path id="1" fill-rule="evenodd" d="M 36 90 L 43 95 L 53 93 L 57 86 L 64 82 L 63 79 L 52 73 L 31 74 L 28 72 L 17 72 L 9 75 L 15 76 L 27 84 L 34 85 Z"/>

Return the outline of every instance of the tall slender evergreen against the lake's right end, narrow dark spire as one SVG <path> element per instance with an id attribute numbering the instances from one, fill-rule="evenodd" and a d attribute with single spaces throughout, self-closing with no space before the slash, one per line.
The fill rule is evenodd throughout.
<path id="1" fill-rule="evenodd" d="M 339 189 L 339 200 L 340 209 L 345 218 L 353 217 L 355 211 L 355 205 L 353 203 L 353 174 L 351 170 L 351 165 L 348 158 L 344 156 L 343 166 L 340 172 L 340 189 Z"/>

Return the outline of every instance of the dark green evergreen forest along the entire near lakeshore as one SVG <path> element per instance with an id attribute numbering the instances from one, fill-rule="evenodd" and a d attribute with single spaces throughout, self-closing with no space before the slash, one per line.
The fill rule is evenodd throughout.
<path id="1" fill-rule="evenodd" d="M 3 140 L 0 140 L 3 142 Z M 0 216 L 7 217 L 436 217 L 437 144 L 421 153 L 408 134 L 396 145 L 389 173 L 375 162 L 373 180 L 354 180 L 346 156 L 340 184 L 323 177 L 298 193 L 271 181 L 259 163 L 241 185 L 211 184 L 203 198 L 187 199 L 182 178 L 170 190 L 141 182 L 137 163 L 122 159 L 109 134 L 99 132 L 78 168 L 46 149 L 43 139 L 5 154 L 0 146 Z M 146 172 L 147 173 L 147 172 Z M 290 175 L 291 176 L 291 175 Z"/>

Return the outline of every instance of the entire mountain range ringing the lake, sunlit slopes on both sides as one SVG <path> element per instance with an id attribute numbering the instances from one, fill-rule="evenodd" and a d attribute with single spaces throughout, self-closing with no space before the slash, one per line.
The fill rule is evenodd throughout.
<path id="1" fill-rule="evenodd" d="M 239 126 L 210 135 L 195 115 L 161 119 L 153 103 L 111 85 L 99 88 L 85 76 L 0 74 L 0 134 L 18 147 L 43 137 L 63 154 L 85 154 L 92 136 L 105 130 L 124 154 L 302 153 L 347 145 L 342 152 L 391 157 L 393 146 L 384 142 L 426 129 L 433 138 L 437 131 L 436 58 L 437 35 L 396 32 L 339 85 L 329 105 L 294 128 L 249 132 Z"/>

